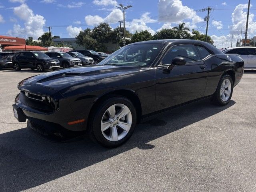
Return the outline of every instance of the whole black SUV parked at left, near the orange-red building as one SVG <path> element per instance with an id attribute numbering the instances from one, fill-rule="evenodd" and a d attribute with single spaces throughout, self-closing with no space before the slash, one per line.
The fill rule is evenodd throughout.
<path id="1" fill-rule="evenodd" d="M 35 68 L 42 72 L 46 69 L 57 70 L 60 68 L 60 62 L 56 59 L 51 59 L 46 54 L 38 51 L 21 51 L 12 58 L 13 68 L 16 71 L 22 68 Z"/>

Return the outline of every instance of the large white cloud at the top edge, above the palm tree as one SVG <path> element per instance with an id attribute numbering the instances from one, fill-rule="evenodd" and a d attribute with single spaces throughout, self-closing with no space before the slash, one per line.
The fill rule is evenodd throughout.
<path id="1" fill-rule="evenodd" d="M 180 23 L 185 19 L 192 19 L 194 23 L 203 21 L 192 8 L 183 6 L 180 0 L 159 0 L 158 14 L 158 20 L 166 23 Z"/>

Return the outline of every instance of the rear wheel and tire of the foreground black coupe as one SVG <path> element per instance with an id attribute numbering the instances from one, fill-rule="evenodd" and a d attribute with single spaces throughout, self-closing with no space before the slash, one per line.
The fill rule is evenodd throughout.
<path id="1" fill-rule="evenodd" d="M 233 80 L 230 75 L 224 75 L 220 79 L 217 90 L 211 98 L 215 105 L 224 106 L 228 104 L 233 94 Z"/>

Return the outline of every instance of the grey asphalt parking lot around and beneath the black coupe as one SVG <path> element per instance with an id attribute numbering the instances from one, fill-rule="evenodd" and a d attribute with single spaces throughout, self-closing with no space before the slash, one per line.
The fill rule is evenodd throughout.
<path id="1" fill-rule="evenodd" d="M 256 71 L 227 106 L 208 101 L 139 124 L 123 146 L 52 143 L 13 116 L 18 82 L 0 71 L 0 191 L 256 191 Z"/>

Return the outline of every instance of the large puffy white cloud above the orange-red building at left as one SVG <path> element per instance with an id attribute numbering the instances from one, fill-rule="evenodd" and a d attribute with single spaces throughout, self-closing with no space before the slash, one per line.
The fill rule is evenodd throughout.
<path id="1" fill-rule="evenodd" d="M 24 28 L 14 24 L 13 29 L 8 31 L 9 34 L 37 39 L 44 33 L 44 17 L 38 14 L 34 15 L 33 11 L 26 4 L 15 7 L 13 12 L 20 19 L 24 20 Z M 19 30 L 20 32 L 18 32 Z"/>

